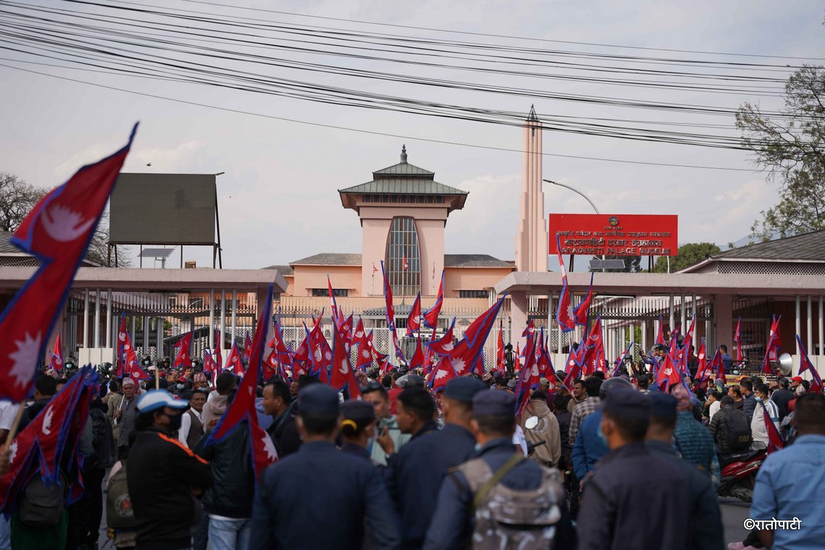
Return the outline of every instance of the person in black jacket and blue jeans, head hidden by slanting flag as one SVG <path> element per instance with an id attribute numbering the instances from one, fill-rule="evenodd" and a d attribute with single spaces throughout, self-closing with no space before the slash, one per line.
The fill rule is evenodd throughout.
<path id="1" fill-rule="evenodd" d="M 213 550 L 247 550 L 255 496 L 255 472 L 244 466 L 251 463 L 247 421 L 216 444 L 206 447 L 206 439 L 196 445 L 195 454 L 209 461 L 214 480 L 203 498 L 210 545 Z"/>

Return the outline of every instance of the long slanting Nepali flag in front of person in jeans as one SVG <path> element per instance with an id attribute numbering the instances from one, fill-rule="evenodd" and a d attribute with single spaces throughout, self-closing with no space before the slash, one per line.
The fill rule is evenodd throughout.
<path id="1" fill-rule="evenodd" d="M 263 304 L 263 311 L 261 315 L 258 316 L 261 321 L 271 317 L 272 289 L 273 285 L 270 284 L 266 301 Z M 229 407 L 226 407 L 224 415 L 220 417 L 218 424 L 214 426 L 214 430 L 210 431 L 209 435 L 206 436 L 206 446 L 208 447 L 224 440 L 238 425 L 241 425 L 243 421 L 247 421 L 251 447 L 251 465 L 255 472 L 256 480 L 261 476 L 267 466 L 278 461 L 278 453 L 275 450 L 275 445 L 272 444 L 269 434 L 258 425 L 257 411 L 255 410 L 255 392 L 258 373 L 261 372 L 263 349 L 266 345 L 267 327 L 268 324 L 266 322 L 258 322 L 255 329 L 255 337 L 252 339 L 252 346 L 250 348 L 247 374 L 243 377 L 240 386 L 238 386 L 235 398 L 229 404 Z M 234 342 L 232 348 L 233 351 L 238 354 L 238 346 L 236 346 Z M 240 359 L 239 354 L 238 359 Z M 244 468 L 243 465 L 239 467 Z"/>

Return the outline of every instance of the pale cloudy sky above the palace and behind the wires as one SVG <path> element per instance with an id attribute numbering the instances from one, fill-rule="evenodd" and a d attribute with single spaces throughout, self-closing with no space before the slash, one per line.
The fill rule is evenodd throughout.
<path id="1" fill-rule="evenodd" d="M 216 2 L 224 5 L 181 0 L 139 1 L 144 5 L 163 5 L 164 9 L 178 7 L 228 16 L 252 16 L 258 20 L 277 21 L 287 25 L 328 26 L 370 33 L 471 40 L 480 44 L 563 49 L 571 52 L 778 65 L 797 65 L 804 63 L 804 59 L 809 59 L 810 63 L 823 63 L 814 58 L 825 52 L 823 7 L 820 2 L 782 2 L 781 9 L 777 9 L 775 2 L 705 0 Z M 97 13 L 106 12 L 103 8 L 64 2 L 30 3 L 45 7 L 68 7 L 90 13 L 96 10 Z M 229 7 L 229 4 L 277 9 L 304 16 L 238 10 Z M 609 46 L 459 35 L 305 16 Z M 706 55 L 627 49 L 617 45 L 804 59 Z M 26 46 L 15 47 L 28 51 Z M 519 128 L 351 106 L 332 106 L 183 82 L 163 82 L 92 73 L 78 68 L 22 63 L 44 62 L 26 51 L 4 51 L 0 54 L 0 64 L 4 65 L 0 66 L 0 80 L 3 82 L 0 125 L 5 129 L 0 133 L 0 172 L 15 173 L 38 186 L 58 185 L 82 164 L 120 148 L 125 143 L 131 125 L 140 121 L 139 133 L 125 170 L 225 172 L 218 178 L 224 266 L 257 268 L 287 263 L 323 251 L 360 251 L 361 232 L 357 215 L 351 210 L 342 209 L 337 189 L 369 181 L 373 170 L 398 162 L 398 153 L 402 144 L 406 143 L 409 162 L 436 172 L 436 181 L 469 190 L 464 210 L 452 214 L 447 223 L 446 251 L 488 253 L 502 259 L 513 257 L 518 197 L 521 191 L 521 153 L 517 152 L 521 148 Z M 747 95 L 747 92 L 681 92 L 653 87 L 538 80 L 501 74 L 461 73 L 438 68 L 405 68 L 403 65 L 389 66 L 380 62 L 341 61 L 318 55 L 306 55 L 301 59 L 311 59 L 314 63 L 349 63 L 349 66 L 357 68 L 392 70 L 417 76 L 579 96 L 611 96 L 724 109 L 735 109 L 742 101 L 758 101 L 768 110 L 775 110 L 781 105 L 779 96 L 756 97 Z M 672 68 L 654 65 L 656 68 Z M 12 67 L 87 83 L 26 73 Z M 729 116 L 683 115 L 657 110 L 592 106 L 529 96 L 364 81 L 338 75 L 318 76 L 294 69 L 257 67 L 255 70 L 367 92 L 483 109 L 523 111 L 525 115 L 530 104 L 535 103 L 540 116 L 577 115 L 643 120 L 648 121 L 648 125 L 661 121 L 709 123 L 723 127 L 696 131 L 736 134 L 733 118 Z M 699 67 L 691 70 L 703 72 L 710 69 Z M 553 73 L 554 69 L 547 69 L 546 72 Z M 726 72 L 730 71 L 720 71 Z M 788 73 L 772 70 L 770 74 L 786 76 Z M 95 87 L 91 83 L 192 101 L 205 106 Z M 246 113 L 237 112 L 238 110 Z M 404 137 L 323 128 L 278 120 L 277 117 Z M 690 128 L 687 130 L 691 131 Z M 516 149 L 516 152 L 468 145 Z M 751 158 L 742 151 L 556 131 L 544 133 L 544 153 L 706 167 L 752 168 Z M 151 167 L 146 166 L 148 162 L 151 162 Z M 758 212 L 773 204 L 776 199 L 775 185 L 767 183 L 763 174 L 751 170 L 653 167 L 547 156 L 544 157 L 544 177 L 577 187 L 603 212 L 679 214 L 680 242 L 710 241 L 723 247 L 728 242 L 747 235 Z M 547 213 L 586 213 L 589 209 L 581 197 L 562 188 L 545 188 L 545 199 Z M 197 260 L 201 266 L 209 263 L 209 258 L 208 249 L 186 250 L 186 259 Z"/>

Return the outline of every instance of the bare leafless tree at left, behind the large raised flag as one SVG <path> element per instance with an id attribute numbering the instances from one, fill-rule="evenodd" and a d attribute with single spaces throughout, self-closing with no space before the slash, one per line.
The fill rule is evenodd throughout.
<path id="1" fill-rule="evenodd" d="M 26 214 L 31 212 L 40 199 L 48 192 L 47 189 L 36 187 L 21 179 L 20 176 L 8 172 L 0 172 L 0 229 L 13 233 L 21 224 Z M 86 259 L 101 266 L 106 266 L 109 242 L 109 213 L 104 212 L 97 231 L 89 243 Z M 118 265 L 128 267 L 131 260 L 125 254 L 125 249 L 118 247 Z"/>

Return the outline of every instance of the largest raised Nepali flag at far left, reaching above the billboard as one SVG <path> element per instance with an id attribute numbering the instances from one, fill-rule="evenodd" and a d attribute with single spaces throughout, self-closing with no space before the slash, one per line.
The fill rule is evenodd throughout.
<path id="1" fill-rule="evenodd" d="M 40 267 L 0 314 L 0 399 L 22 402 L 43 363 L 45 345 L 63 312 L 106 201 L 134 138 L 111 157 L 82 167 L 51 190 L 9 239 Z"/>

